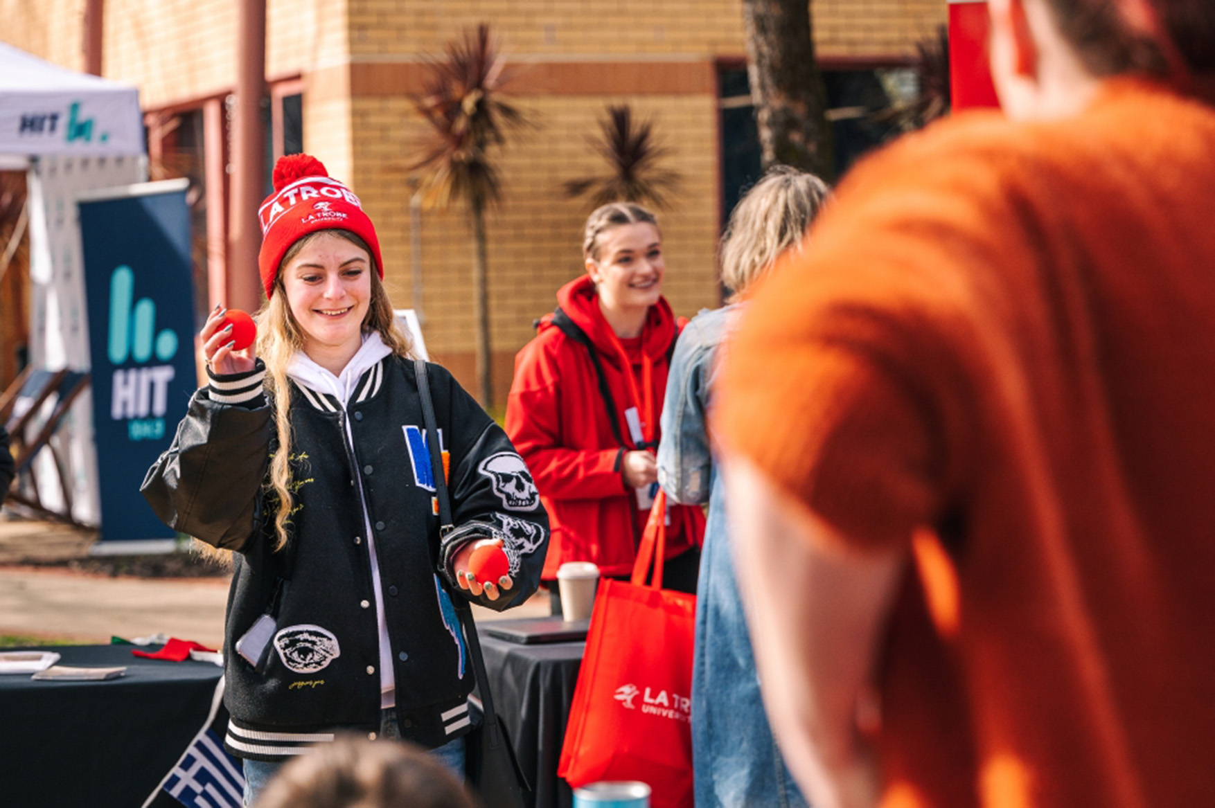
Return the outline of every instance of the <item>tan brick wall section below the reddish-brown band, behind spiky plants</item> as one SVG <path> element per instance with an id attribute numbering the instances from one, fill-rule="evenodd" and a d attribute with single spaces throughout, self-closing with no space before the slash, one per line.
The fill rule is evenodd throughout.
<path id="1" fill-rule="evenodd" d="M 532 334 L 532 320 L 550 311 L 554 293 L 583 272 L 582 227 L 589 208 L 566 199 L 566 180 L 605 173 L 587 137 L 609 103 L 632 103 L 654 115 L 672 147 L 666 166 L 684 182 L 672 210 L 660 214 L 667 254 L 666 294 L 678 313 L 717 303 L 713 244 L 717 232 L 716 107 L 711 96 L 524 96 L 535 129 L 498 154 L 503 199 L 490 214 L 490 299 L 493 344 L 514 351 Z M 409 193 L 403 171 L 418 124 L 400 98 L 354 102 L 356 192 L 375 221 L 385 279 L 394 303 L 409 305 L 412 281 Z M 468 300 L 473 242 L 467 208 L 423 213 L 422 279 L 428 345 L 440 354 L 473 350 Z"/>

